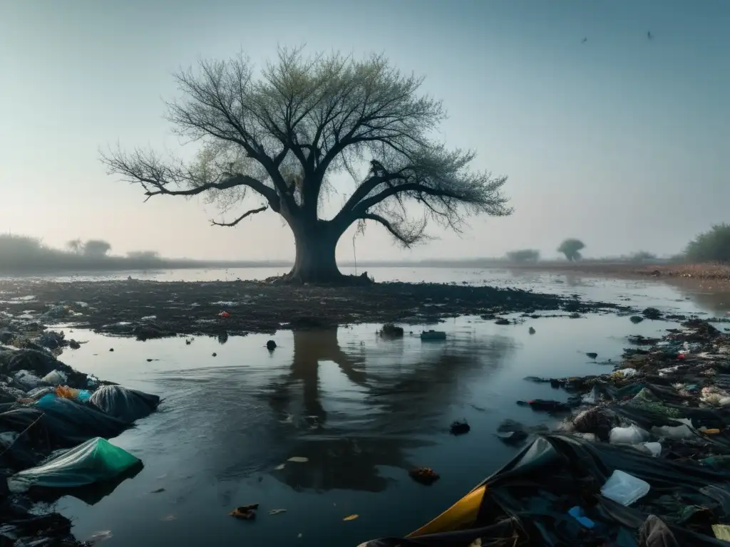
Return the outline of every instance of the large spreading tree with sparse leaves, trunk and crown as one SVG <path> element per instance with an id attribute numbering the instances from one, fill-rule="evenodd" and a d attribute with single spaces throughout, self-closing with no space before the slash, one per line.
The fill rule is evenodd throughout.
<path id="1" fill-rule="evenodd" d="M 203 61 L 176 79 L 184 98 L 168 104 L 168 120 L 201 143 L 196 161 L 116 150 L 102 154 L 110 174 L 139 183 L 147 198 L 206 193 L 226 210 L 258 199 L 235 220 L 213 224 L 238 225 L 269 209 L 280 214 L 296 244 L 293 281 L 339 279 L 337 241 L 355 223 L 380 224 L 410 247 L 426 238 L 428 220 L 460 230 L 467 214 L 512 212 L 501 193 L 507 177 L 471 171 L 475 152 L 434 141 L 442 103 L 420 94 L 422 78 L 383 56 L 305 58 L 301 48 L 280 49 L 258 77 L 239 55 Z M 356 186 L 324 219 L 331 176 L 342 171 Z"/>

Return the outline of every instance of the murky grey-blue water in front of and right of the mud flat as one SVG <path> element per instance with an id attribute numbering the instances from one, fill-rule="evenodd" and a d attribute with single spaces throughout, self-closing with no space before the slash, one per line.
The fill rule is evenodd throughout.
<path id="1" fill-rule="evenodd" d="M 720 315 L 727 304 L 724 295 L 652 282 L 531 274 L 510 283 L 509 274 L 443 269 L 411 275 L 429 276 L 488 278 L 683 313 Z M 357 325 L 277 333 L 272 354 L 264 348 L 269 337 L 260 335 L 186 345 L 182 338 L 140 343 L 77 332 L 74 337 L 89 343 L 62 356 L 69 365 L 165 400 L 158 413 L 113 441 L 141 458 L 144 470 L 94 505 L 66 497 L 58 508 L 72 516 L 81 539 L 111 530 L 108 546 L 356 546 L 404 535 L 515 453 L 495 435 L 502 420 L 549 421 L 515 401 L 564 400 L 564 393 L 524 376 L 610 371 L 585 352 L 597 352 L 598 362 L 615 361 L 626 335 L 656 336 L 672 326 L 632 325 L 611 314 L 509 326 L 464 317 L 439 327 L 447 331 L 445 342 L 408 333 L 385 341 L 376 325 Z M 537 332 L 530 335 L 529 327 Z M 449 435 L 450 422 L 462 418 L 472 431 Z M 308 461 L 287 462 L 293 456 Z M 442 479 L 415 484 L 407 475 L 412 465 L 434 468 Z M 228 516 L 249 503 L 261 504 L 257 521 Z M 269 516 L 277 508 L 287 511 Z M 342 520 L 353 513 L 358 519 Z"/>

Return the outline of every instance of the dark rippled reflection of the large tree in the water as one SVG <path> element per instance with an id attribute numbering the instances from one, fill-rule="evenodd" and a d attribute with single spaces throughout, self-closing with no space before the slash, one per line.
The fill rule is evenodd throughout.
<path id="1" fill-rule="evenodd" d="M 289 462 L 273 472 L 293 489 L 383 491 L 388 478 L 379 468 L 412 467 L 408 452 L 434 444 L 429 435 L 447 432 L 444 409 L 458 403 L 469 381 L 499 366 L 513 347 L 507 337 L 467 335 L 447 343 L 418 341 L 418 350 L 409 353 L 402 340 L 382 341 L 366 360 L 364 349 L 343 351 L 337 333 L 293 333 L 291 369 L 269 392 L 269 404 L 279 416 L 295 414 L 296 406 L 304 414 L 291 418 L 297 442 L 289 456 L 309 461 Z M 357 410 L 348 416 L 338 412 L 334 424 L 328 423 L 328 398 L 347 395 L 327 394 L 323 402 L 320 371 L 325 361 L 336 363 L 358 387 L 351 401 Z"/>

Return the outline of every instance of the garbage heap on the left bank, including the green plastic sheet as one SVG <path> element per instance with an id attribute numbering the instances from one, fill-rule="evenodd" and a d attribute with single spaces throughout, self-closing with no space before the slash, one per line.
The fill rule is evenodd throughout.
<path id="1" fill-rule="evenodd" d="M 50 352 L 0 346 L 0 545 L 81 545 L 69 519 L 38 515 L 34 503 L 105 495 L 138 473 L 142 462 L 107 439 L 159 403 L 74 371 Z"/>

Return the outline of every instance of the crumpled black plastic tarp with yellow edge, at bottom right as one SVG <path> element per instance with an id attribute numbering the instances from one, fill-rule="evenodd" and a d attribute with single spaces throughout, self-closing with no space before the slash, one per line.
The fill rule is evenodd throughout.
<path id="1" fill-rule="evenodd" d="M 629 507 L 602 496 L 602 486 L 615 470 L 645 481 L 649 492 Z M 721 547 L 726 543 L 714 537 L 712 524 L 730 519 L 727 483 L 730 473 L 656 459 L 631 447 L 572 435 L 542 435 L 456 505 L 407 538 L 365 545 L 456 547 L 479 539 L 483 546 L 637 547 L 643 530 L 645 540 L 664 535 L 679 545 Z M 708 485 L 715 488 L 707 489 Z M 669 503 L 668 497 L 674 503 Z M 587 529 L 569 515 L 576 506 L 596 523 L 595 527 Z M 688 506 L 702 511 L 685 515 Z M 660 521 L 648 521 L 650 515 Z"/>

